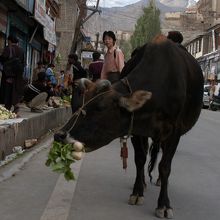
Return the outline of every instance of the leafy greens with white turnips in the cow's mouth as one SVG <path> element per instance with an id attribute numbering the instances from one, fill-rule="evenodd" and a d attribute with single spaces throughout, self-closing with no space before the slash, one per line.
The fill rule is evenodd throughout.
<path id="1" fill-rule="evenodd" d="M 80 142 L 62 144 L 54 141 L 48 154 L 46 166 L 55 172 L 63 173 L 67 181 L 74 180 L 75 177 L 70 165 L 82 158 L 83 151 L 83 144 Z"/>

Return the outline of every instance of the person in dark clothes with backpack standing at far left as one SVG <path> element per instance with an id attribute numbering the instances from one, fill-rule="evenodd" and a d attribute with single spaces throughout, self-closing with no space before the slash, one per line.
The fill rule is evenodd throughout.
<path id="1" fill-rule="evenodd" d="M 23 97 L 24 51 L 18 46 L 16 37 L 9 35 L 8 46 L 3 50 L 0 62 L 3 64 L 0 103 L 8 110 L 13 106 L 13 112 L 17 113 L 18 103 Z"/>

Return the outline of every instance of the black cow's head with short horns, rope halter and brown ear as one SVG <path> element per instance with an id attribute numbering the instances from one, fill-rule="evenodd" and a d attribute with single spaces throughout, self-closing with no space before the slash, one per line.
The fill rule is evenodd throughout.
<path id="1" fill-rule="evenodd" d="M 54 139 L 64 143 L 82 142 L 87 152 L 126 135 L 131 113 L 151 98 L 151 92 L 143 90 L 123 96 L 106 80 L 93 83 L 82 79 L 79 88 L 84 91 L 84 104 L 79 106 L 79 110 L 61 131 L 54 135 Z"/>

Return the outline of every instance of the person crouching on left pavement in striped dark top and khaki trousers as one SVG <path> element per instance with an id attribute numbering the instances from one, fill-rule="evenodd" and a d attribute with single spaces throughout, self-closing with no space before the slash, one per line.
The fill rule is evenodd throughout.
<path id="1" fill-rule="evenodd" d="M 53 96 L 51 88 L 46 85 L 46 73 L 38 73 L 38 79 L 29 84 L 24 91 L 24 102 L 31 108 L 31 112 L 43 112 L 41 107 L 45 105 L 49 97 Z"/>

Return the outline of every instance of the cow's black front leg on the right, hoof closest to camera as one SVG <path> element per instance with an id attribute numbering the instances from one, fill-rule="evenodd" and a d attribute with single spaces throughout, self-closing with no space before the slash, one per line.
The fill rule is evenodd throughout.
<path id="1" fill-rule="evenodd" d="M 180 140 L 180 135 L 174 134 L 161 144 L 163 155 L 159 163 L 159 175 L 161 179 L 160 195 L 158 198 L 158 206 L 156 216 L 159 218 L 173 218 L 173 210 L 170 206 L 168 198 L 168 177 L 171 171 L 171 163 L 176 152 L 177 145 Z"/>

